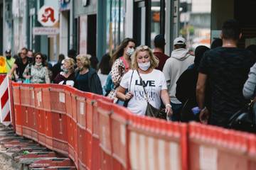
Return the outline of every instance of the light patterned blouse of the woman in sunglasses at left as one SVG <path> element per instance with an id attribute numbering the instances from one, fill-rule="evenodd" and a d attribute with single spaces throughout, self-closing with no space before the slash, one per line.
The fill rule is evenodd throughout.
<path id="1" fill-rule="evenodd" d="M 23 77 L 25 75 L 28 75 L 29 73 L 29 67 L 31 67 L 31 83 L 33 84 L 49 84 L 50 83 L 50 78 L 49 78 L 49 72 L 47 67 L 39 66 L 37 67 L 36 65 L 27 65 L 26 69 L 23 72 Z"/>

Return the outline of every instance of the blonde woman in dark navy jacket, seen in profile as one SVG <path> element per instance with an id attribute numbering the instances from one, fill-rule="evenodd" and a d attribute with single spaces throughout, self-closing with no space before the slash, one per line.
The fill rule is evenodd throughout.
<path id="1" fill-rule="evenodd" d="M 78 55 L 77 72 L 75 72 L 75 88 L 80 91 L 102 94 L 102 85 L 95 69 L 90 67 L 90 55 Z"/>

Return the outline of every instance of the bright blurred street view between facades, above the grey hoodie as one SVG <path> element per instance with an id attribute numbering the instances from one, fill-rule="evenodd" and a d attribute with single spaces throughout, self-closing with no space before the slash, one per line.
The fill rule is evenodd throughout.
<path id="1" fill-rule="evenodd" d="M 210 47 L 211 0 L 180 0 L 179 34 L 187 40 L 187 47 Z"/>

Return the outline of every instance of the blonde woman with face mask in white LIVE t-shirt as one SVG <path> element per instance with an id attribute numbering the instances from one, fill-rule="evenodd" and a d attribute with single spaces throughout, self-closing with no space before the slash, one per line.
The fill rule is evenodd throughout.
<path id="1" fill-rule="evenodd" d="M 117 89 L 117 97 L 122 101 L 129 101 L 127 108 L 132 113 L 145 115 L 146 100 L 148 99 L 151 106 L 158 109 L 161 107 L 162 100 L 167 115 L 172 114 L 164 74 L 155 69 L 158 64 L 159 60 L 146 45 L 137 47 L 132 55 L 132 69 L 124 74 Z M 143 83 L 140 81 L 140 77 Z M 144 84 L 144 88 L 142 84 Z M 128 92 L 125 94 L 125 91 Z"/>

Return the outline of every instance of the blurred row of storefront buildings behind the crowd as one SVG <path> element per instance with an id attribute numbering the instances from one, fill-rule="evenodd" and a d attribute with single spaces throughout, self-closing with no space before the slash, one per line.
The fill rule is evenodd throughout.
<path id="1" fill-rule="evenodd" d="M 58 13 L 53 26 L 38 21 L 42 6 Z M 123 38 L 153 47 L 154 36 L 161 33 L 170 55 L 177 36 L 186 38 L 191 50 L 210 46 L 228 18 L 242 24 L 239 45 L 245 47 L 256 43 L 255 8 L 255 0 L 0 0 L 0 52 L 28 47 L 54 61 L 75 49 L 100 60 Z"/>

